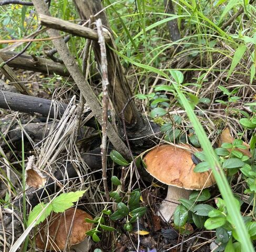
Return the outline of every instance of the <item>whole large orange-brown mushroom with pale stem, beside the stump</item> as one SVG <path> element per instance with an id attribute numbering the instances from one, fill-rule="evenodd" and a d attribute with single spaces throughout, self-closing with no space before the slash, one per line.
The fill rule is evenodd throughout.
<path id="1" fill-rule="evenodd" d="M 187 147 L 189 145 L 183 145 Z M 192 147 L 192 146 L 191 146 Z M 188 198 L 191 190 L 202 190 L 215 183 L 210 171 L 195 173 L 192 153 L 201 149 L 181 149 L 176 145 L 160 145 L 151 150 L 144 158 L 147 171 L 163 184 L 167 184 L 168 192 L 159 207 L 159 215 L 167 222 L 173 216 L 180 198 Z"/>

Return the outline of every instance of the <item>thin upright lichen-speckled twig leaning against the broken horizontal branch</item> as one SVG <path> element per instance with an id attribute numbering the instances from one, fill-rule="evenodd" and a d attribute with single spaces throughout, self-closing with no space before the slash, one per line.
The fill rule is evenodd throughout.
<path id="1" fill-rule="evenodd" d="M 106 193 L 107 201 L 110 201 L 108 183 L 107 183 L 107 122 L 108 122 L 108 67 L 107 67 L 107 51 L 105 46 L 105 38 L 103 33 L 103 26 L 101 19 L 96 20 L 97 32 L 99 36 L 99 46 L 101 55 L 101 75 L 103 86 L 103 123 L 102 127 L 102 140 L 101 140 L 101 164 L 102 164 L 102 179 Z"/>

